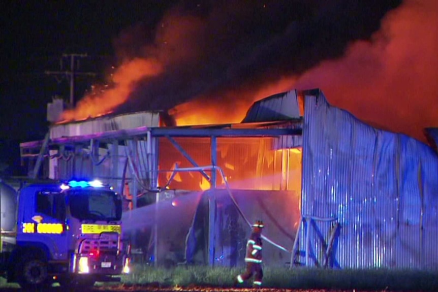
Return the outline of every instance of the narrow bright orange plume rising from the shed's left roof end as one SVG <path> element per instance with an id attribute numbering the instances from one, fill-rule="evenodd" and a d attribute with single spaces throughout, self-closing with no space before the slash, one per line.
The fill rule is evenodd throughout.
<path id="1" fill-rule="evenodd" d="M 74 109 L 66 110 L 61 115 L 61 122 L 84 120 L 111 113 L 114 108 L 126 102 L 133 86 L 145 77 L 162 72 L 161 64 L 155 59 L 136 58 L 123 63 L 113 75 L 113 86 L 96 93 L 93 90 L 78 102 Z"/>

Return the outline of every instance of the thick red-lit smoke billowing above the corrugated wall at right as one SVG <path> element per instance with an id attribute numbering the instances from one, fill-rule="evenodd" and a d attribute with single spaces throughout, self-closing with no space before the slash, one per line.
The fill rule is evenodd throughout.
<path id="1" fill-rule="evenodd" d="M 368 41 L 303 74 L 299 88 L 319 87 L 358 118 L 425 141 L 438 126 L 438 2 L 405 0 Z"/>

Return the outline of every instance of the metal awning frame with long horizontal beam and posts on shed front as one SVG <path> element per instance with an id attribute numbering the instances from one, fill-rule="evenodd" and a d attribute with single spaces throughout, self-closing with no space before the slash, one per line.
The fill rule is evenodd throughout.
<path id="1" fill-rule="evenodd" d="M 105 133 L 97 133 L 85 136 L 60 137 L 50 139 L 46 135 L 44 140 L 24 142 L 20 144 L 20 154 L 23 159 L 33 159 L 32 168 L 29 169 L 29 176 L 37 178 L 41 174 L 41 165 L 46 158 L 50 158 L 49 150 L 57 151 L 58 155 L 65 155 L 65 152 L 73 151 L 76 153 L 78 147 L 87 146 L 95 153 L 93 149 L 99 149 L 104 146 L 108 149 L 111 156 L 119 156 L 118 145 L 126 145 L 129 141 L 138 141 L 139 139 L 146 139 L 147 155 L 153 157 L 149 167 L 151 174 L 151 190 L 159 192 L 158 186 L 158 155 L 159 155 L 159 137 L 167 138 L 170 143 L 193 165 L 197 171 L 201 173 L 211 185 L 215 188 L 216 173 L 212 171 L 208 175 L 196 161 L 175 141 L 177 137 L 190 138 L 210 138 L 210 157 L 211 167 L 216 166 L 216 139 L 221 137 L 280 137 L 280 136 L 301 136 L 302 135 L 302 118 L 289 119 L 284 121 L 269 121 L 269 122 L 255 122 L 255 123 L 240 123 L 240 124 L 217 124 L 217 125 L 202 125 L 202 126 L 182 126 L 182 127 L 138 127 L 134 129 L 120 129 L 116 131 L 108 131 Z M 136 143 L 134 143 L 136 144 Z M 135 148 L 136 150 L 136 148 Z M 134 150 L 134 151 L 135 151 Z M 99 159 L 99 157 L 95 157 Z M 121 180 L 124 178 L 117 178 L 115 174 L 118 171 L 117 160 L 113 160 L 111 172 L 114 176 L 113 180 Z M 68 178 L 64 178 L 68 179 Z M 136 193 L 138 189 L 136 180 L 133 180 L 133 192 Z M 123 183 L 120 186 L 120 192 L 123 192 Z M 209 198 L 209 212 L 214 214 L 216 212 L 214 192 L 213 196 Z M 137 206 L 137 197 L 133 196 L 133 208 Z M 210 216 L 211 218 L 214 218 Z M 210 224 L 211 226 L 211 224 Z M 210 228 L 211 229 L 211 228 Z M 211 232 L 211 231 L 210 231 Z M 211 237 L 209 241 L 209 264 L 214 263 L 214 239 Z"/>

